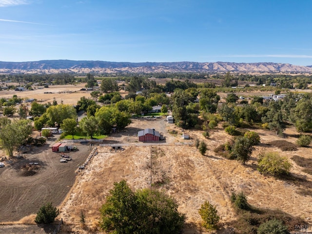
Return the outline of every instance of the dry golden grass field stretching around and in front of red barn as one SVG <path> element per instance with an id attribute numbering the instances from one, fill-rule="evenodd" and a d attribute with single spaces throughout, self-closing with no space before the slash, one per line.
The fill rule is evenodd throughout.
<path id="1" fill-rule="evenodd" d="M 147 188 L 152 184 L 173 196 L 179 204 L 179 211 L 187 216 L 184 234 L 205 233 L 200 227 L 201 218 L 198 209 L 205 200 L 217 207 L 221 217 L 221 226 L 217 233 L 229 233 L 227 223 L 235 219 L 231 206 L 232 192 L 243 191 L 250 204 L 261 207 L 280 209 L 284 212 L 304 218 L 311 223 L 312 196 L 305 196 L 301 190 L 312 189 L 312 176 L 302 172 L 292 161 L 292 174 L 304 177 L 306 184 L 293 184 L 289 181 L 260 174 L 254 164 L 262 151 L 278 151 L 281 155 L 291 158 L 293 154 L 309 157 L 311 148 L 299 148 L 295 152 L 285 152 L 269 146 L 267 143 L 280 140 L 273 132 L 256 130 L 261 136 L 261 144 L 256 146 L 252 158 L 243 166 L 237 161 L 230 161 L 217 156 L 213 149 L 230 138 L 223 129 L 211 131 L 211 137 L 204 139 L 200 131 L 188 131 L 192 138 L 200 138 L 208 145 L 208 151 L 202 156 L 193 146 L 175 145 L 183 142 L 181 129 L 168 125 L 163 121 L 150 126 L 160 128 L 165 125 L 167 135 L 169 129 L 175 128 L 176 136 L 169 134 L 169 146 L 135 146 L 124 147 L 123 151 L 111 151 L 109 147 L 98 148 L 98 155 L 90 167 L 78 175 L 78 180 L 71 194 L 61 207 L 60 217 L 66 225 L 62 227 L 66 233 L 98 233 L 99 208 L 105 202 L 113 183 L 125 179 L 133 190 Z M 140 128 L 137 121 L 130 128 Z M 287 140 L 295 142 L 294 130 L 286 131 Z M 126 139 L 127 132 L 119 134 Z M 108 139 L 109 140 L 109 139 Z M 116 138 L 115 138 L 116 140 Z M 115 142 L 115 141 L 114 141 Z M 152 167 L 150 159 L 152 157 Z M 152 175 L 152 179 L 151 179 Z M 86 227 L 81 228 L 79 215 L 83 211 L 86 216 Z"/>

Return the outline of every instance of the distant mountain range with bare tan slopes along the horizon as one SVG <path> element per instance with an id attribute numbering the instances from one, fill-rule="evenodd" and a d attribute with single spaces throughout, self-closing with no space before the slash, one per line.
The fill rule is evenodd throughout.
<path id="1" fill-rule="evenodd" d="M 0 73 L 152 73 L 152 72 L 312 73 L 311 66 L 278 63 L 127 63 L 104 61 L 41 60 L 0 62 Z"/>

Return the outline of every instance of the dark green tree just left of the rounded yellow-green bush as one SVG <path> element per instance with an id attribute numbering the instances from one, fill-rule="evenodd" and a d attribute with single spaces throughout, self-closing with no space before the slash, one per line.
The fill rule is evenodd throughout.
<path id="1" fill-rule="evenodd" d="M 232 154 L 234 157 L 245 164 L 249 160 L 254 150 L 251 142 L 245 137 L 239 137 L 235 140 L 232 148 Z"/>

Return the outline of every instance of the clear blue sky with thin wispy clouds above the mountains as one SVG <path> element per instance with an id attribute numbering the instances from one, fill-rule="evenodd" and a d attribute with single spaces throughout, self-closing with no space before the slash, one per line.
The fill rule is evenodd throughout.
<path id="1" fill-rule="evenodd" d="M 312 0 L 0 0 L 0 61 L 312 65 Z"/>

